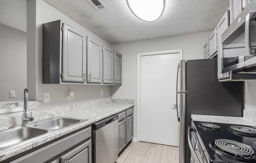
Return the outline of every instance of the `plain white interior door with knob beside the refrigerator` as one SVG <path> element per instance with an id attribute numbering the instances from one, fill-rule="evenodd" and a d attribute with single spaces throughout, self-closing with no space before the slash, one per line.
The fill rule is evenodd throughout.
<path id="1" fill-rule="evenodd" d="M 140 141 L 178 146 L 176 78 L 179 53 L 141 56 Z"/>

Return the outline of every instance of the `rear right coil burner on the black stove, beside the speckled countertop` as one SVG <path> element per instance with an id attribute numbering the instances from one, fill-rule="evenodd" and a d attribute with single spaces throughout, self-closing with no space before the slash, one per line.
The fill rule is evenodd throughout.
<path id="1" fill-rule="evenodd" d="M 233 125 L 229 126 L 227 129 L 238 135 L 256 137 L 256 128 L 253 127 Z"/>

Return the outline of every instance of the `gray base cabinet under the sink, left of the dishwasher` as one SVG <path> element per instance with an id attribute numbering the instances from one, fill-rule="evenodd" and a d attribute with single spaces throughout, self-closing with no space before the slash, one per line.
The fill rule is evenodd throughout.
<path id="1" fill-rule="evenodd" d="M 91 163 L 91 157 L 91 127 L 88 127 L 11 163 Z"/>

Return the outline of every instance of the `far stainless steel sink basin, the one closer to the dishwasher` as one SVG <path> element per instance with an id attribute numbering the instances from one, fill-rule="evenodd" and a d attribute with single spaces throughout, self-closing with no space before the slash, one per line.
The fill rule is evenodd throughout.
<path id="1" fill-rule="evenodd" d="M 56 129 L 60 129 L 60 128 L 63 128 L 63 127 L 69 126 L 69 125 L 73 125 L 78 122 L 80 122 L 80 120 L 71 119 L 71 118 L 58 118 L 58 119 L 38 123 L 35 125 L 35 127 L 56 130 Z"/>

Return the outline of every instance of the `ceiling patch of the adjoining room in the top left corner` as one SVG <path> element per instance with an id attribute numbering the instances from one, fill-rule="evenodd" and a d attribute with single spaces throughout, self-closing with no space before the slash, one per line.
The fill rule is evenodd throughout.
<path id="1" fill-rule="evenodd" d="M 0 0 L 0 23 L 26 32 L 26 2 L 26 0 Z"/>

